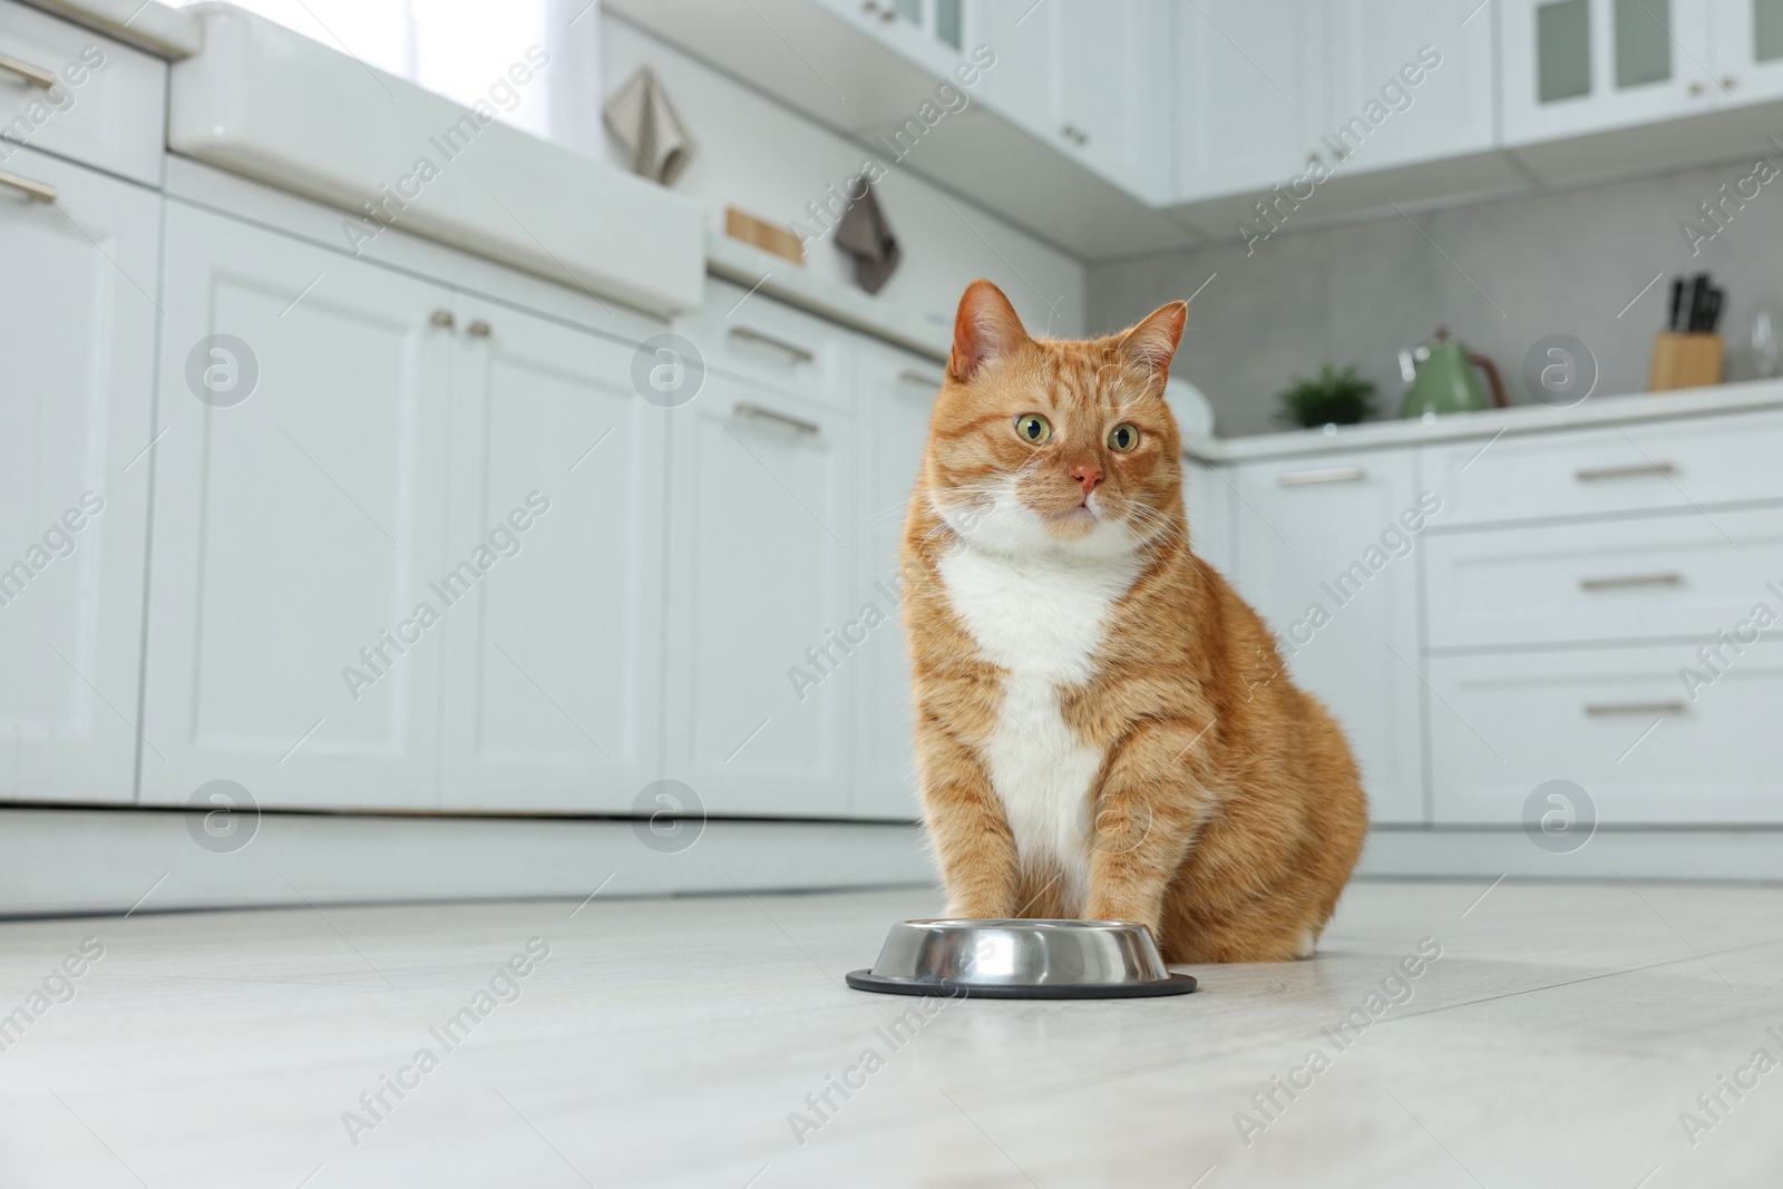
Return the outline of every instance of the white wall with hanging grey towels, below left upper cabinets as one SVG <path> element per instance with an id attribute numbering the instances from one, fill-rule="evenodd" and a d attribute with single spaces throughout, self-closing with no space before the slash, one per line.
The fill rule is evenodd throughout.
<path id="1" fill-rule="evenodd" d="M 852 141 L 612 12 L 601 20 L 603 91 L 610 94 L 644 62 L 656 70 L 697 143 L 694 162 L 674 189 L 701 200 L 715 228 L 724 226 L 724 209 L 733 205 L 777 225 L 804 221 L 806 203 L 861 171 L 865 150 Z M 612 135 L 604 141 L 608 160 L 624 168 L 624 150 Z M 904 250 L 899 271 L 879 291 L 883 301 L 952 326 L 961 291 L 974 278 L 990 276 L 1034 333 L 1047 333 L 1047 307 L 1054 301 L 1052 333 L 1084 332 L 1086 276 L 1073 257 L 908 169 L 893 168 L 874 189 Z M 806 269 L 849 283 L 850 260 L 827 237 L 806 248 Z"/>

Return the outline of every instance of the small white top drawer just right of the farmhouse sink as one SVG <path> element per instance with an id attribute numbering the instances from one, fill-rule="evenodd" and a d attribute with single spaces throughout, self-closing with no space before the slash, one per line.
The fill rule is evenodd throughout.
<path id="1" fill-rule="evenodd" d="M 717 373 L 850 410 L 849 332 L 729 282 L 706 280 L 704 305 L 676 323 Z"/>

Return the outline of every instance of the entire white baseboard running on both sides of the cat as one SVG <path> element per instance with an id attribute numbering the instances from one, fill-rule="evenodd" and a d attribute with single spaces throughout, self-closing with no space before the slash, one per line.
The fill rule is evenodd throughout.
<path id="1" fill-rule="evenodd" d="M 788 891 L 934 882 L 908 822 L 642 822 L 262 813 L 251 840 L 203 845 L 193 815 L 0 808 L 0 916 Z M 1549 854 L 1519 829 L 1382 827 L 1375 879 L 1783 879 L 1783 829 L 1599 829 Z"/>

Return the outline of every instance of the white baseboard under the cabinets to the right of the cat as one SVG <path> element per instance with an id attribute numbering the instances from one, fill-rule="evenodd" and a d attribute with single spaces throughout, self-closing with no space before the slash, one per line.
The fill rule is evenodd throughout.
<path id="1" fill-rule="evenodd" d="M 1599 829 L 1583 847 L 1551 854 L 1521 829 L 1378 827 L 1362 877 L 1783 879 L 1783 829 Z"/>

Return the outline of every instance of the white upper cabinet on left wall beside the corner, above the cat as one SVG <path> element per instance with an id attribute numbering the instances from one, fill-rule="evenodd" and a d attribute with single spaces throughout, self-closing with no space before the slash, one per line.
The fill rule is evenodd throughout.
<path id="1" fill-rule="evenodd" d="M 1130 194 L 1168 198 L 1170 5 L 993 4 L 984 21 L 997 111 Z"/>

